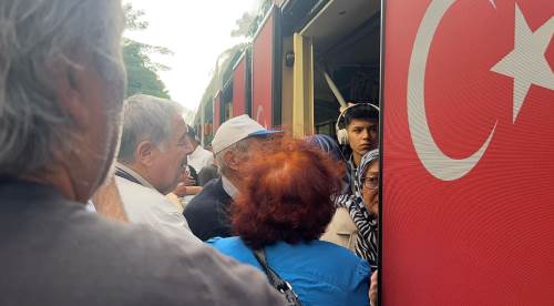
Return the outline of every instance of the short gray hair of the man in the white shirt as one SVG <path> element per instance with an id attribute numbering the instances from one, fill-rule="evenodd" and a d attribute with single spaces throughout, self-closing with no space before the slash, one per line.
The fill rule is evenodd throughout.
<path id="1" fill-rule="evenodd" d="M 135 150 L 143 141 L 163 146 L 171 137 L 173 119 L 182 113 L 183 108 L 171 100 L 146 94 L 129 98 L 123 111 L 123 134 L 117 160 L 133 163 Z"/>

